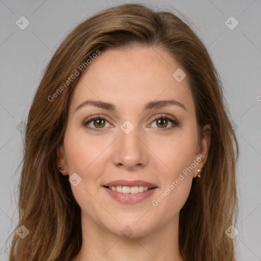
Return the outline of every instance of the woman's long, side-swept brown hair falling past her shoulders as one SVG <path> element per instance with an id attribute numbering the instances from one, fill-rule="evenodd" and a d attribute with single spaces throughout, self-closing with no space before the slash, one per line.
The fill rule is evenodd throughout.
<path id="1" fill-rule="evenodd" d="M 180 210 L 179 250 L 185 261 L 236 260 L 225 230 L 237 219 L 236 161 L 239 148 L 229 120 L 220 76 L 200 38 L 187 23 L 166 11 L 140 4 L 102 10 L 81 22 L 62 41 L 45 68 L 29 112 L 19 180 L 19 221 L 12 232 L 9 260 L 70 261 L 82 246 L 81 208 L 68 176 L 57 168 L 70 97 L 77 81 L 68 77 L 97 50 L 134 46 L 161 48 L 187 74 L 197 126 L 211 125 L 211 145 L 201 178 L 194 178 Z M 64 84 L 68 85 L 62 88 Z M 61 86 L 61 87 L 60 87 Z M 61 91 L 57 95 L 58 87 Z M 49 101 L 50 96 L 56 97 Z M 53 98 L 52 98 L 53 99 Z M 24 239 L 15 231 L 30 231 Z M 10 235 L 12 236 L 12 235 Z"/>

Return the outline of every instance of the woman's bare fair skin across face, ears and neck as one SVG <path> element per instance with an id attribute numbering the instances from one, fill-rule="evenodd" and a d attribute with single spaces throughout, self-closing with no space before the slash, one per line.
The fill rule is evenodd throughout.
<path id="1" fill-rule="evenodd" d="M 197 169 L 204 166 L 211 142 L 210 126 L 197 133 L 194 102 L 187 78 L 177 82 L 172 76 L 180 68 L 159 48 L 136 47 L 107 50 L 84 72 L 70 100 L 64 144 L 58 148 L 57 164 L 63 175 L 77 173 L 82 181 L 71 185 L 82 210 L 82 248 L 73 261 L 82 260 L 182 260 L 178 248 L 179 211 L 191 190 Z M 112 112 L 94 106 L 76 107 L 87 99 L 113 103 Z M 175 99 L 186 107 L 170 105 L 143 110 L 153 100 Z M 106 115 L 102 128 L 93 115 Z M 160 132 L 163 127 L 152 116 L 167 114 L 179 126 Z M 128 120 L 134 126 L 125 134 L 120 126 Z M 157 124 L 158 123 L 158 124 Z M 172 126 L 168 121 L 165 129 Z M 158 198 L 182 170 L 203 154 L 205 158 L 180 181 L 158 205 Z M 184 176 L 184 175 L 183 175 Z M 149 181 L 158 188 L 149 198 L 134 204 L 111 198 L 102 185 L 117 179 Z M 128 225 L 132 236 L 121 230 Z"/>

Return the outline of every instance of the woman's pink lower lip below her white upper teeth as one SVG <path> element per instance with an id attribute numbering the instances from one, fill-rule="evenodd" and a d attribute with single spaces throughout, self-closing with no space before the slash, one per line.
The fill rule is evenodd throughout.
<path id="1" fill-rule="evenodd" d="M 110 190 L 109 188 L 106 188 L 106 187 L 103 187 L 103 188 L 105 188 L 105 190 L 108 192 L 108 194 L 115 200 L 122 202 L 122 203 L 129 203 L 129 204 L 137 203 L 137 202 L 140 202 L 140 201 L 150 197 L 156 189 L 156 188 L 153 188 L 153 189 L 149 189 L 149 190 L 146 190 L 143 192 L 132 194 L 132 193 L 119 193 L 117 191 Z"/>

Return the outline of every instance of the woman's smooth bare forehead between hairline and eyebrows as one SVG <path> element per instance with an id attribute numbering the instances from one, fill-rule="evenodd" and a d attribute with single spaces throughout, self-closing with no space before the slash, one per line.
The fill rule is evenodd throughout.
<path id="1" fill-rule="evenodd" d="M 177 61 L 159 48 L 103 51 L 81 76 L 70 107 L 75 110 L 86 99 L 95 99 L 112 102 L 124 111 L 152 100 L 175 99 L 193 110 L 187 77 L 181 82 L 173 77 L 180 69 Z"/>

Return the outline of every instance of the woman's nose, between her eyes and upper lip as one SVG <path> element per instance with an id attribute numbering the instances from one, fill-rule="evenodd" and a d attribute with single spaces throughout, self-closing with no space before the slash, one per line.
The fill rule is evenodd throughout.
<path id="1" fill-rule="evenodd" d="M 138 128 L 128 134 L 119 129 L 119 138 L 115 141 L 114 164 L 128 170 L 144 168 L 148 163 L 148 148 L 145 143 Z"/>

